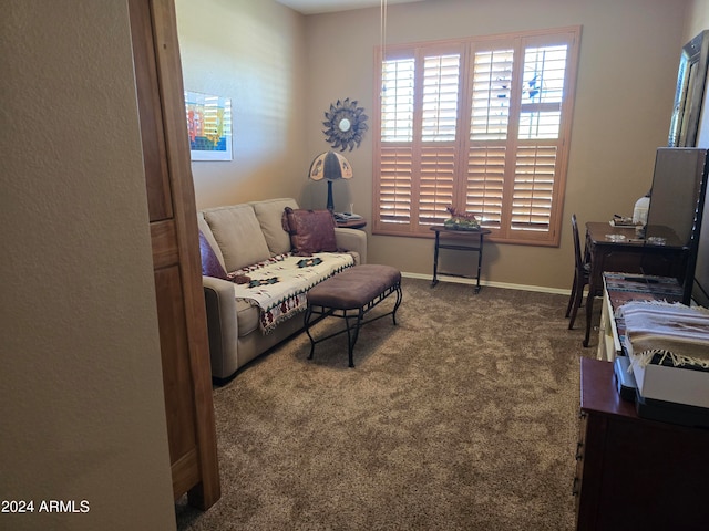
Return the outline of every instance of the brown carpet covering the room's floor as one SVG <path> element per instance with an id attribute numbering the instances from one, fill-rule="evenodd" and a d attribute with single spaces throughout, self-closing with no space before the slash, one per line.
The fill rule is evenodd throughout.
<path id="1" fill-rule="evenodd" d="M 364 326 L 354 368 L 346 336 L 308 361 L 301 334 L 215 389 L 222 499 L 179 500 L 179 530 L 573 529 L 579 357 L 595 348 L 567 330 L 567 298 L 403 288 L 398 326 Z"/>

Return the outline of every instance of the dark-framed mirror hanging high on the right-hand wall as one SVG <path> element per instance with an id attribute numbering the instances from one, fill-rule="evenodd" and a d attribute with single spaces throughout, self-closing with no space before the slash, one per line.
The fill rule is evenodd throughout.
<path id="1" fill-rule="evenodd" d="M 667 143 L 669 147 L 697 145 L 708 66 L 709 30 L 705 30 L 682 46 Z"/>

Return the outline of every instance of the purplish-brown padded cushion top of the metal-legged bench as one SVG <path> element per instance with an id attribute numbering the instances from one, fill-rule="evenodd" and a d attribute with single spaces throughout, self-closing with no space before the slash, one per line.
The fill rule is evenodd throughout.
<path id="1" fill-rule="evenodd" d="M 401 272 L 390 266 L 367 263 L 346 269 L 308 291 L 308 304 L 335 310 L 364 306 L 401 283 Z"/>

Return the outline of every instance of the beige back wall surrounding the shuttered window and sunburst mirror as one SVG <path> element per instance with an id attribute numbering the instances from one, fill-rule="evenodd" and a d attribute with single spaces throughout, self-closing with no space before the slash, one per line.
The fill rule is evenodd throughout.
<path id="1" fill-rule="evenodd" d="M 665 0 L 436 0 L 390 6 L 388 42 L 583 25 L 564 219 L 607 220 L 630 214 L 651 181 L 655 150 L 667 143 L 677 60 L 682 42 L 682 2 Z M 641 15 L 640 15 L 641 13 Z M 379 9 L 308 18 L 308 72 L 327 76 L 310 91 L 308 113 L 337 97 L 372 110 L 372 46 L 379 42 Z M 373 132 L 370 132 L 373 134 Z M 317 127 L 307 131 L 311 152 L 323 147 Z M 358 211 L 371 215 L 371 136 L 349 155 Z M 432 242 L 374 236 L 370 260 L 430 274 Z M 573 275 L 571 223 L 559 248 L 491 244 L 483 277 L 500 283 L 568 289 Z M 449 259 L 460 260 L 460 253 Z M 449 260 L 452 261 L 452 260 Z M 448 266 L 453 269 L 453 264 Z"/>

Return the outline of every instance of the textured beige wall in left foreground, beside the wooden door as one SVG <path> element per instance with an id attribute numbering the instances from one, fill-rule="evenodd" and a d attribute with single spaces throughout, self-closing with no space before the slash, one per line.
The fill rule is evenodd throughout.
<path id="1" fill-rule="evenodd" d="M 171 529 L 126 2 L 0 12 L 0 528 Z"/>

